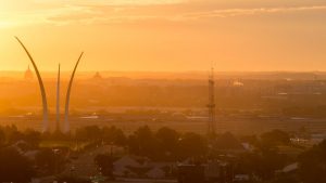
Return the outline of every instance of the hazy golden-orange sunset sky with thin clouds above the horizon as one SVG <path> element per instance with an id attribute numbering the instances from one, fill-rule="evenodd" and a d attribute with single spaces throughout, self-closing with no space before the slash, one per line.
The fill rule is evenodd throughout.
<path id="1" fill-rule="evenodd" d="M 0 0 L 0 70 L 326 70 L 325 0 Z"/>

